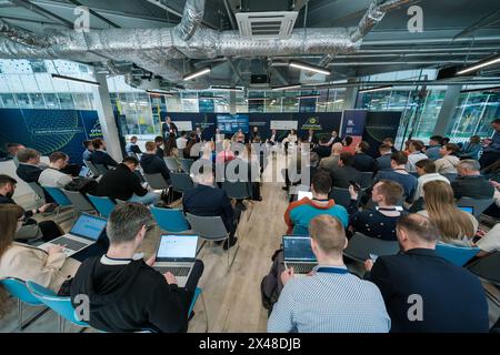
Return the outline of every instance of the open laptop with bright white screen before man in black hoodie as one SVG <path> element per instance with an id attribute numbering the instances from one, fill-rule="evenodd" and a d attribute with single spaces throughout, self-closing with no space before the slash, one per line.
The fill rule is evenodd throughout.
<path id="1" fill-rule="evenodd" d="M 197 257 L 198 235 L 166 234 L 160 237 L 154 270 L 176 276 L 178 286 L 184 287 Z"/>

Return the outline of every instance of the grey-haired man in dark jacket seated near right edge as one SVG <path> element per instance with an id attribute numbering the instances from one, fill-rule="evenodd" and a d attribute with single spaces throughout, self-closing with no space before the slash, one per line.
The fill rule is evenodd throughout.
<path id="1" fill-rule="evenodd" d="M 451 182 L 456 199 L 492 199 L 494 187 L 489 183 L 479 170 L 480 164 L 476 160 L 462 160 L 457 164 L 458 176 Z"/>

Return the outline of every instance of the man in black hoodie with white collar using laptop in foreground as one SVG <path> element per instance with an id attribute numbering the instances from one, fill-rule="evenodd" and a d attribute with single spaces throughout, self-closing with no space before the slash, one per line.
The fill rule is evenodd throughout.
<path id="1" fill-rule="evenodd" d="M 89 324 L 106 332 L 187 332 L 188 310 L 203 272 L 196 261 L 184 288 L 171 273 L 160 274 L 137 254 L 153 219 L 137 203 L 118 205 L 106 227 L 110 246 L 106 255 L 86 260 L 71 284 L 74 306 L 87 295 Z"/>

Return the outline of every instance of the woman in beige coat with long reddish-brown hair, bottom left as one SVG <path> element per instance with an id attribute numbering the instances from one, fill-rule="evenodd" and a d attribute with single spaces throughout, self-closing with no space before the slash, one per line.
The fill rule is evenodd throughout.
<path id="1" fill-rule="evenodd" d="M 14 242 L 23 217 L 22 207 L 14 204 L 0 205 L 0 280 L 17 277 L 32 281 L 59 293 L 62 284 L 74 276 L 80 262 L 67 257 L 62 246 L 54 245 L 46 252 Z"/>

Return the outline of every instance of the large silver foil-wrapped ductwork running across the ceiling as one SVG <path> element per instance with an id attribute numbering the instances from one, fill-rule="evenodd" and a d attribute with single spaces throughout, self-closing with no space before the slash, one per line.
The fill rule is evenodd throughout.
<path id="1" fill-rule="evenodd" d="M 287 39 L 256 40 L 237 31 L 218 32 L 200 27 L 204 0 L 187 0 L 182 21 L 174 28 L 107 29 L 77 32 L 57 31 L 32 34 L 0 23 L 0 58 L 68 59 L 83 62 L 129 61 L 182 83 L 192 70 L 189 59 L 219 57 L 274 57 L 328 54 L 357 51 L 362 37 L 383 17 L 384 11 L 410 0 L 376 0 L 357 28 L 331 28 L 292 31 Z M 206 88 L 206 79 L 183 82 L 187 88 Z"/>

